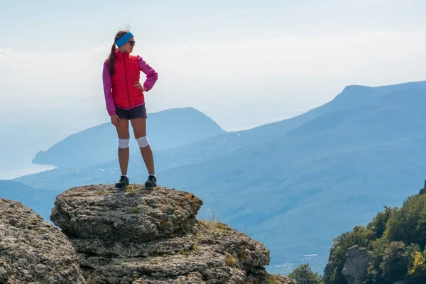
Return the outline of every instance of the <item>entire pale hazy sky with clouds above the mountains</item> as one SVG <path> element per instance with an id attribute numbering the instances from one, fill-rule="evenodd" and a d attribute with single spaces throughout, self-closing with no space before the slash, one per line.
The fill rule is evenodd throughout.
<path id="1" fill-rule="evenodd" d="M 229 131 L 285 119 L 346 85 L 426 80 L 425 14 L 424 0 L 0 0 L 2 120 L 108 120 L 102 65 L 128 27 L 159 75 L 148 112 L 195 107 Z"/>

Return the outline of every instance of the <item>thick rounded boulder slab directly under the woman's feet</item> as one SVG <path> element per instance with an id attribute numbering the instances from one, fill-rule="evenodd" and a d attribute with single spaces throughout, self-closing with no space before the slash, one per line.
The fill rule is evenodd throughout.
<path id="1" fill-rule="evenodd" d="M 67 236 L 107 241 L 150 241 L 195 224 L 202 205 L 195 195 L 178 190 L 140 194 L 138 189 L 131 185 L 119 194 L 109 185 L 66 190 L 56 198 L 50 220 Z"/>

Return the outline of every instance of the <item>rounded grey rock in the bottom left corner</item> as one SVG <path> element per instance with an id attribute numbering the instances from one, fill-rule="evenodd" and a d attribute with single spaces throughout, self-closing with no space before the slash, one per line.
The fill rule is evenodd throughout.
<path id="1" fill-rule="evenodd" d="M 0 198 L 0 283 L 86 283 L 80 259 L 55 226 Z"/>

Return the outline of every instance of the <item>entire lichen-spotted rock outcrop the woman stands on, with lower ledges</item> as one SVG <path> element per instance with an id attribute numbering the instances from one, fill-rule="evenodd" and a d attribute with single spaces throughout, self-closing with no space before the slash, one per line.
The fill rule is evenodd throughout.
<path id="1" fill-rule="evenodd" d="M 180 190 L 74 187 L 50 219 L 80 255 L 89 283 L 293 283 L 268 275 L 269 251 L 219 222 L 198 221 L 202 200 Z"/>

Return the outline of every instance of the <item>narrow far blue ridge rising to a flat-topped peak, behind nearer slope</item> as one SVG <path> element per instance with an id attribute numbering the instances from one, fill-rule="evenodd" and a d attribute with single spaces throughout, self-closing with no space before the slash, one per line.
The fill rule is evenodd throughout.
<path id="1" fill-rule="evenodd" d="M 398 90 L 426 91 L 426 81 L 409 82 L 383 87 L 351 85 L 345 87 L 337 97 L 332 99 L 332 101 L 291 119 L 277 121 L 245 131 L 224 133 L 180 148 L 166 149 L 162 151 L 162 153 L 169 155 L 170 159 L 175 161 L 175 164 L 179 163 L 180 165 L 184 165 L 196 163 L 207 158 L 214 158 L 217 157 L 217 155 L 227 155 L 228 153 L 236 151 L 236 149 L 246 146 L 262 146 L 265 143 L 283 138 L 287 133 L 297 129 L 297 127 L 302 124 L 316 119 L 323 114 L 327 114 L 330 111 L 344 111 L 346 109 L 369 104 L 370 102 L 380 103 L 383 96 L 386 97 L 388 94 Z"/>

